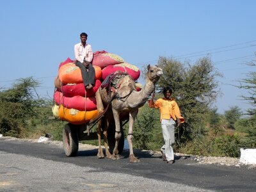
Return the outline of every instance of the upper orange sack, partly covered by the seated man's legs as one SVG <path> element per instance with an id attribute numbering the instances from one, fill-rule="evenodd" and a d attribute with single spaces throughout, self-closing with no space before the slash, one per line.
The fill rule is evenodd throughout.
<path id="1" fill-rule="evenodd" d="M 95 68 L 95 79 L 101 79 L 102 71 L 98 66 L 93 66 Z M 59 79 L 61 83 L 83 83 L 83 78 L 81 70 L 74 63 L 67 63 L 59 68 L 58 72 Z"/>

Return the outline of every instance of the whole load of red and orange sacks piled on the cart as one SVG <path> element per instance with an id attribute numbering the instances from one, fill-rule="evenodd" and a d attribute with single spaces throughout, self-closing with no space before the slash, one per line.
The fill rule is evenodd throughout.
<path id="1" fill-rule="evenodd" d="M 126 63 L 120 56 L 106 51 L 93 53 L 92 65 L 95 68 L 95 84 L 90 90 L 84 88 L 81 70 L 67 58 L 60 63 L 58 76 L 54 79 L 54 106 L 56 118 L 71 124 L 84 124 L 98 115 L 95 93 L 101 83 L 113 72 L 127 72 L 134 81 L 140 77 L 140 69 Z M 140 90 L 141 84 L 137 84 Z"/>

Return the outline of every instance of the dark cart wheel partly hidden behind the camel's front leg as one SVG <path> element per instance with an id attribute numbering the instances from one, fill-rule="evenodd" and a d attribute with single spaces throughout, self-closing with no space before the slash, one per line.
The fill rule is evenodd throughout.
<path id="1" fill-rule="evenodd" d="M 122 152 L 124 150 L 124 131 L 122 128 L 121 128 L 121 133 L 122 133 L 122 136 L 120 138 L 119 145 L 118 145 L 118 154 L 122 154 Z M 108 147 L 109 147 L 109 152 L 111 154 L 113 154 L 113 150 L 115 148 L 115 143 L 116 143 L 115 124 L 111 124 L 108 127 Z"/>

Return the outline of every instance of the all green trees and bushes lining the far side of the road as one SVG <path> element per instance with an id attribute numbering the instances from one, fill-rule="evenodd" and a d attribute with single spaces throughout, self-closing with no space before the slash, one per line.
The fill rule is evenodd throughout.
<path id="1" fill-rule="evenodd" d="M 156 98 L 163 97 L 161 88 L 171 86 L 172 96 L 186 120 L 176 128 L 175 152 L 239 157 L 240 148 L 256 147 L 256 72 L 247 74 L 237 86 L 247 95 L 242 96 L 241 101 L 250 103 L 252 107 L 241 111 L 232 106 L 221 115 L 214 107 L 221 94 L 216 80 L 221 74 L 210 58 L 180 63 L 173 58 L 160 57 L 158 65 L 164 74 L 157 84 Z M 247 65 L 256 67 L 255 61 Z M 51 118 L 52 99 L 40 98 L 36 93 L 38 86 L 38 81 L 28 77 L 17 80 L 11 88 L 0 88 L 0 134 L 39 138 L 50 133 L 54 140 L 62 140 L 63 127 L 67 122 Z M 97 141 L 88 142 L 97 145 Z M 134 122 L 134 148 L 159 150 L 162 145 L 159 111 L 145 104 Z"/>

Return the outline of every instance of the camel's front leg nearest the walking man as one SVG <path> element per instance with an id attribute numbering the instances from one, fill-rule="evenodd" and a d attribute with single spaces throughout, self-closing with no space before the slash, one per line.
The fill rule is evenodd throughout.
<path id="1" fill-rule="evenodd" d="M 128 136 L 127 136 L 127 140 L 129 143 L 129 149 L 130 149 L 130 162 L 131 163 L 136 163 L 136 162 L 140 162 L 139 159 L 137 159 L 134 154 L 133 154 L 133 147 L 132 147 L 132 140 L 133 140 L 133 124 L 134 124 L 134 120 L 136 117 L 137 113 L 136 111 L 130 111 L 129 113 L 129 131 L 128 131 Z"/>

